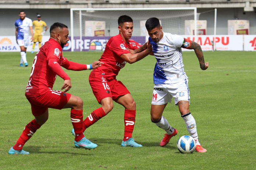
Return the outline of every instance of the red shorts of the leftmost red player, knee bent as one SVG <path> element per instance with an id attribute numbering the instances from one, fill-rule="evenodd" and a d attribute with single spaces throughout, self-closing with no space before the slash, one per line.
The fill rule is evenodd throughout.
<path id="1" fill-rule="evenodd" d="M 70 99 L 70 93 L 64 93 L 59 90 L 49 89 L 46 93 L 27 98 L 31 104 L 32 114 L 39 116 L 43 114 L 48 108 L 62 109 Z"/>

